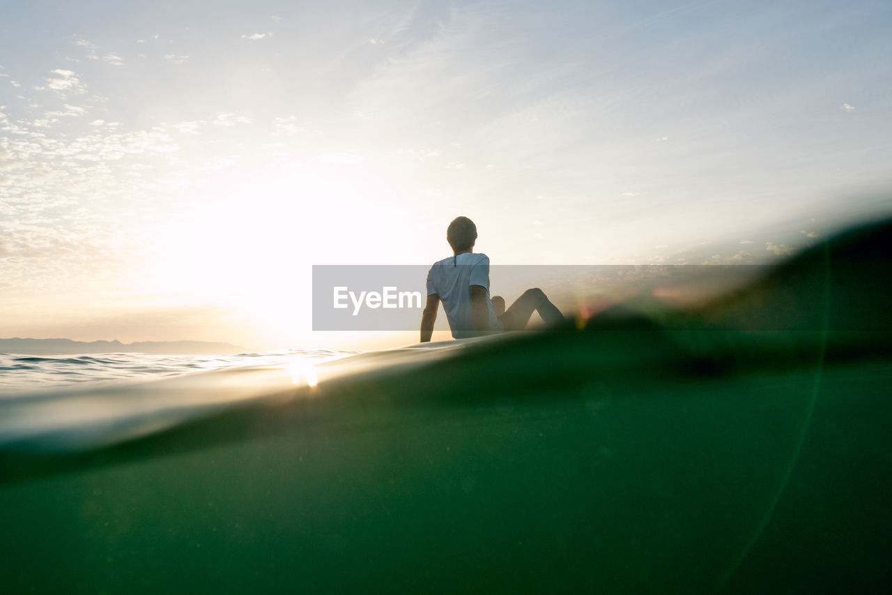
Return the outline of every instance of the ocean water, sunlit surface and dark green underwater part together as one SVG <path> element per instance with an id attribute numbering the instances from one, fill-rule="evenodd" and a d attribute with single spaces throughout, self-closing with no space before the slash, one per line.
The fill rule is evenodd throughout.
<path id="1" fill-rule="evenodd" d="M 10 393 L 4 590 L 888 592 L 890 252 L 860 230 L 582 330 Z"/>

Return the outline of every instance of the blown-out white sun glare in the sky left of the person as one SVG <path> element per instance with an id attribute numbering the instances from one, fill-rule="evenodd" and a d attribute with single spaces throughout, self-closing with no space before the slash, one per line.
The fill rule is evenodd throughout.
<path id="1" fill-rule="evenodd" d="M 137 283 L 172 302 L 227 308 L 261 335 L 306 333 L 312 264 L 380 254 L 370 245 L 400 213 L 393 202 L 388 180 L 355 157 L 219 172 L 146 230 Z"/>

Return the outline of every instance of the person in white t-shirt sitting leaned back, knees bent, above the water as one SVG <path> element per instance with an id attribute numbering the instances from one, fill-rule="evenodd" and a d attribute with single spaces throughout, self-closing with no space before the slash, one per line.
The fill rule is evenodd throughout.
<path id="1" fill-rule="evenodd" d="M 564 322 L 564 315 L 538 288 L 524 291 L 507 310 L 503 298 L 490 298 L 490 259 L 474 254 L 476 239 L 477 226 L 467 217 L 457 217 L 446 230 L 452 256 L 434 263 L 427 272 L 422 342 L 431 340 L 441 301 L 455 339 L 491 331 L 523 331 L 533 312 L 549 325 Z"/>

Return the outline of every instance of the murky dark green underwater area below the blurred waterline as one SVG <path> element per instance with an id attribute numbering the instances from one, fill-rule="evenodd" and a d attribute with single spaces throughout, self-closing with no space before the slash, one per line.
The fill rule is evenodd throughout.
<path id="1" fill-rule="evenodd" d="M 4 591 L 888 586 L 887 361 L 567 378 L 533 374 L 540 342 L 501 388 L 499 356 L 458 357 L 7 455 Z"/>

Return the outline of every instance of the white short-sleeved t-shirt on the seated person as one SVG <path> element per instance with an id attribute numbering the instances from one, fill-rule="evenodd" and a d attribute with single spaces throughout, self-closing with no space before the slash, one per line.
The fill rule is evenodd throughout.
<path id="1" fill-rule="evenodd" d="M 502 323 L 490 301 L 490 258 L 485 254 L 465 252 L 443 258 L 427 272 L 427 295 L 440 296 L 452 337 L 465 339 L 477 335 L 474 309 L 471 306 L 472 285 L 486 289 L 486 307 L 490 311 L 490 331 L 501 331 Z"/>

